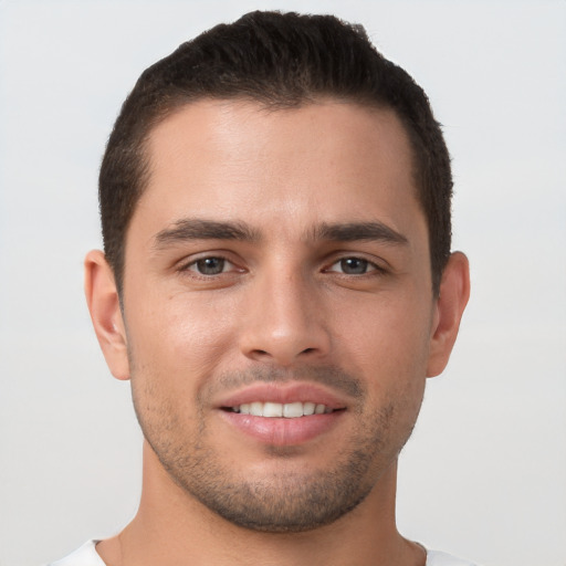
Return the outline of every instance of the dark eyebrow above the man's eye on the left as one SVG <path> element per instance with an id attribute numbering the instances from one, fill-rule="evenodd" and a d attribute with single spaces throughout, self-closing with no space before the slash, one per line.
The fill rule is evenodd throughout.
<path id="1" fill-rule="evenodd" d="M 166 228 L 155 237 L 155 247 L 165 248 L 168 244 L 187 240 L 240 240 L 255 242 L 260 234 L 243 222 L 219 222 L 185 218 L 178 220 L 171 228 Z"/>

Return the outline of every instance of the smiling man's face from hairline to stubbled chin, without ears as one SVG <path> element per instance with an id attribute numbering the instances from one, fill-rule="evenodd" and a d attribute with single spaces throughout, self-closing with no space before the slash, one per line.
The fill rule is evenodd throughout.
<path id="1" fill-rule="evenodd" d="M 338 102 L 203 101 L 148 151 L 124 275 L 147 441 L 235 524 L 335 521 L 409 437 L 438 322 L 402 126 Z"/>

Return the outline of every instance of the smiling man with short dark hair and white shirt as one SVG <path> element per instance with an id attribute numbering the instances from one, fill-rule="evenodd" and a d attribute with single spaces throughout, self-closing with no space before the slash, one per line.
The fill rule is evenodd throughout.
<path id="1" fill-rule="evenodd" d="M 397 531 L 397 459 L 469 295 L 422 90 L 332 17 L 144 72 L 103 159 L 93 324 L 142 426 L 138 513 L 57 566 L 469 565 Z"/>

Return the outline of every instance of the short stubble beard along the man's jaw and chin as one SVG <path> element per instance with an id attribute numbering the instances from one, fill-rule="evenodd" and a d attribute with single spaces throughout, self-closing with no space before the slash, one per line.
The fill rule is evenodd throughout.
<path id="1" fill-rule="evenodd" d="M 345 378 L 354 382 L 353 378 Z M 146 400 L 148 394 L 145 392 Z M 245 470 L 234 472 L 221 462 L 221 454 L 210 442 L 202 405 L 198 406 L 197 433 L 184 438 L 178 412 L 170 403 L 151 408 L 146 403 L 146 410 L 140 411 L 136 397 L 134 394 L 144 436 L 172 481 L 230 523 L 264 533 L 311 531 L 355 509 L 396 460 L 415 422 L 399 431 L 395 403 L 369 417 L 361 417 L 363 403 L 359 403 L 356 434 L 332 467 L 305 472 L 293 470 L 286 465 L 294 457 L 293 448 L 268 447 L 265 458 L 280 459 L 282 470 L 253 476 Z"/>

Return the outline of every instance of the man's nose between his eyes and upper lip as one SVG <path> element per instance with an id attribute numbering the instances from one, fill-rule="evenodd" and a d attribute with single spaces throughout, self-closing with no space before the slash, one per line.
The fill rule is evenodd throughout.
<path id="1" fill-rule="evenodd" d="M 240 333 L 244 356 L 285 367 L 321 360 L 331 349 L 321 290 L 298 274 L 256 277 Z"/>

